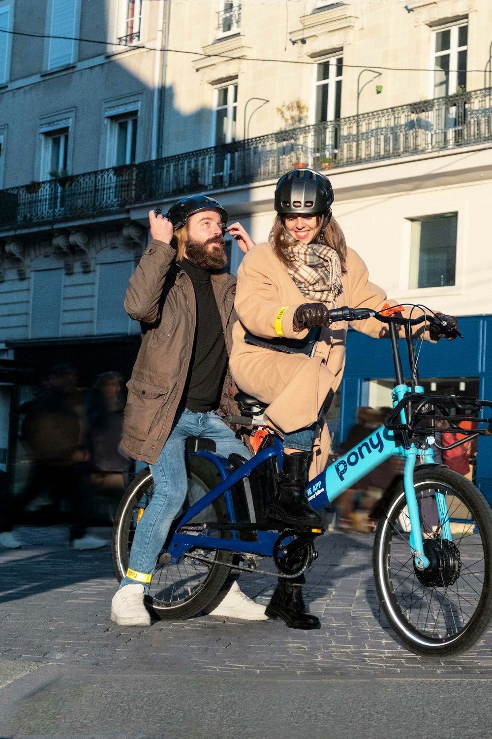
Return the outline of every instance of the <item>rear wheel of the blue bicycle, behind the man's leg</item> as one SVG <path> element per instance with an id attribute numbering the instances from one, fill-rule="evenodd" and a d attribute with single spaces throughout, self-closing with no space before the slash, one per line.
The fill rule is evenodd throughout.
<path id="1" fill-rule="evenodd" d="M 190 480 L 204 491 L 208 486 L 192 473 Z M 114 573 L 122 581 L 128 568 L 138 511 L 145 510 L 153 494 L 149 469 L 142 470 L 123 494 L 113 527 L 111 554 Z M 163 542 L 164 543 L 164 542 Z M 193 560 L 193 552 L 209 564 Z M 156 565 L 146 602 L 160 619 L 190 619 L 201 612 L 221 590 L 234 554 L 229 551 L 194 549 L 170 565 Z"/>

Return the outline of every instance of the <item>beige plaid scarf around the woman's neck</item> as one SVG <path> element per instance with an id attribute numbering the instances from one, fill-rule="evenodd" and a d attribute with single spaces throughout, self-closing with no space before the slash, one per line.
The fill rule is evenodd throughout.
<path id="1" fill-rule="evenodd" d="M 272 234 L 269 240 L 272 242 Z M 287 270 L 302 295 L 327 304 L 328 310 L 336 308 L 343 289 L 338 253 L 326 244 L 303 244 L 285 228 L 280 240 L 288 244 L 287 256 L 291 264 Z"/>

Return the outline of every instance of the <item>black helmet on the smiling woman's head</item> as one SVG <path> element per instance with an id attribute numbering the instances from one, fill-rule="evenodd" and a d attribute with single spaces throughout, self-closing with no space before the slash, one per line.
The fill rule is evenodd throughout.
<path id="1" fill-rule="evenodd" d="M 313 169 L 293 169 L 277 182 L 274 208 L 280 216 L 328 214 L 334 200 L 328 177 Z"/>

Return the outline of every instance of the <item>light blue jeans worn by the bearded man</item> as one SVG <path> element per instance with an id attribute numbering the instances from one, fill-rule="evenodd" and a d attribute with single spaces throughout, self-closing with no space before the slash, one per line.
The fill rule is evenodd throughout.
<path id="1" fill-rule="evenodd" d="M 188 486 L 184 447 L 189 436 L 213 439 L 217 453 L 223 457 L 227 458 L 232 453 L 249 457 L 246 446 L 215 411 L 193 413 L 187 408 L 178 409 L 159 459 L 156 464 L 150 465 L 154 483 L 153 496 L 136 527 L 128 562 L 128 568 L 135 572 L 153 572 L 170 525 L 186 498 Z M 119 587 L 134 585 L 135 582 L 139 581 L 124 577 Z M 148 593 L 149 584 L 143 585 L 145 593 Z"/>

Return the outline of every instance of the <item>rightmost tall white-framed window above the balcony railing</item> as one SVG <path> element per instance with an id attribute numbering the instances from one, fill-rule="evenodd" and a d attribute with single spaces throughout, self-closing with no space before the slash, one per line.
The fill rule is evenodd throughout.
<path id="1" fill-rule="evenodd" d="M 466 89 L 467 44 L 466 21 L 434 32 L 434 98 Z"/>

